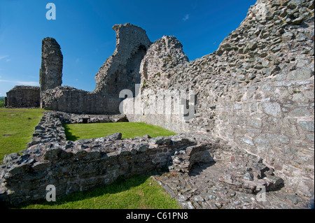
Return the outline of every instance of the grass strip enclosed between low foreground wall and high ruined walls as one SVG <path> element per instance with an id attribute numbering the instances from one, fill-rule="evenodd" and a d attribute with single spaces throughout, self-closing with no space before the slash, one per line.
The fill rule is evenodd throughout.
<path id="1" fill-rule="evenodd" d="M 63 127 L 66 131 L 66 139 L 69 141 L 83 138 L 101 138 L 116 132 L 121 132 L 123 138 L 134 138 L 147 134 L 151 137 L 176 135 L 172 131 L 143 122 L 64 124 Z"/>

